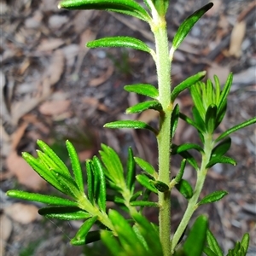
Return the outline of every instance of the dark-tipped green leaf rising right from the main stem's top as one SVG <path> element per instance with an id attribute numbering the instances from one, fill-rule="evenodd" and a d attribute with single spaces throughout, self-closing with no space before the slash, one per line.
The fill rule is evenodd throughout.
<path id="1" fill-rule="evenodd" d="M 183 21 L 172 41 L 172 47 L 174 49 L 179 47 L 195 23 L 207 12 L 207 10 L 211 9 L 212 6 L 213 3 L 207 3 L 207 5 L 203 6 L 201 9 L 198 9 L 193 15 L 190 15 L 186 20 Z"/>

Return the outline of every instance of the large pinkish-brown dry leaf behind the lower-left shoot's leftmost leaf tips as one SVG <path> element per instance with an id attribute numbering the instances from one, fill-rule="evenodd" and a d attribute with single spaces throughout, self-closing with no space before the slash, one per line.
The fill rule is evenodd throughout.
<path id="1" fill-rule="evenodd" d="M 33 171 L 32 167 L 15 151 L 11 152 L 7 157 L 6 166 L 9 172 L 17 177 L 19 183 L 25 185 L 28 189 L 37 191 L 44 188 L 44 179 Z"/>

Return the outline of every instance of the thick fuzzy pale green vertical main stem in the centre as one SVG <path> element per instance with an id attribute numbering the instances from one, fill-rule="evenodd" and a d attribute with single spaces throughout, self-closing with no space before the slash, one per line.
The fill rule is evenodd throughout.
<path id="1" fill-rule="evenodd" d="M 160 19 L 152 30 L 155 38 L 156 71 L 158 76 L 159 101 L 162 105 L 160 113 L 160 131 L 157 136 L 159 150 L 159 180 L 170 183 L 170 147 L 171 147 L 171 61 L 169 60 L 166 20 Z M 171 254 L 171 193 L 159 192 L 159 226 L 160 241 L 164 256 Z"/>

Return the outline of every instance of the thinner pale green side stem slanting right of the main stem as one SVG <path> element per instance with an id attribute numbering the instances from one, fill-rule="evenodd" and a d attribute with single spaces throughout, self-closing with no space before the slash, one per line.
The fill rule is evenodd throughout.
<path id="1" fill-rule="evenodd" d="M 197 172 L 194 195 L 189 199 L 189 204 L 186 209 L 186 212 L 184 213 L 183 218 L 172 238 L 172 253 L 174 253 L 174 249 L 177 246 L 177 242 L 179 241 L 180 237 L 183 235 L 184 230 L 189 224 L 190 218 L 192 217 L 193 213 L 198 207 L 197 202 L 198 202 L 199 196 L 201 195 L 201 190 L 203 189 L 203 185 L 207 177 L 208 169 L 206 168 L 206 166 L 211 158 L 211 153 L 212 153 L 212 148 L 214 143 L 212 142 L 211 134 L 205 135 L 204 139 L 205 139 L 205 146 L 204 146 L 205 154 L 203 154 L 202 156 L 201 170 Z"/>

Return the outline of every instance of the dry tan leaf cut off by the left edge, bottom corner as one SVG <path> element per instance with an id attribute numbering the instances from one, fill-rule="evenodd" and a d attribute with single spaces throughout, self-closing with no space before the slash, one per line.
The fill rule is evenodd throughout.
<path id="1" fill-rule="evenodd" d="M 0 216 L 0 255 L 3 256 L 5 253 L 5 244 L 9 239 L 9 236 L 12 232 L 13 225 L 10 219 L 5 215 L 1 214 Z"/>

